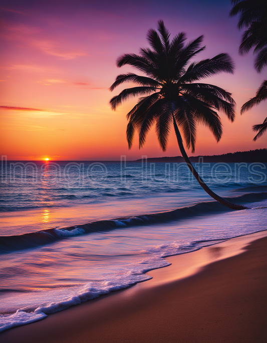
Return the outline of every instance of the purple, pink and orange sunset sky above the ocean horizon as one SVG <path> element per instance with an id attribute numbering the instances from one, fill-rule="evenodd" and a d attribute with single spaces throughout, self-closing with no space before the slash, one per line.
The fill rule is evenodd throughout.
<path id="1" fill-rule="evenodd" d="M 9 160 L 135 160 L 180 155 L 174 131 L 166 152 L 154 128 L 146 145 L 138 139 L 128 150 L 126 114 L 132 99 L 115 112 L 109 87 L 117 75 L 136 72 L 116 67 L 125 53 L 147 47 L 147 31 L 163 20 L 172 37 L 204 35 L 206 49 L 197 60 L 228 53 L 235 73 L 203 79 L 232 93 L 236 119 L 220 114 L 223 135 L 216 143 L 199 125 L 194 155 L 213 155 L 266 147 L 266 136 L 253 142 L 251 126 L 262 123 L 265 104 L 240 116 L 240 107 L 255 95 L 266 70 L 253 69 L 253 55 L 238 55 L 238 18 L 229 18 L 230 0 L 147 1 L 16 1 L 2 0 L 0 52 L 1 154 Z M 140 73 L 139 73 L 140 74 Z M 191 152 L 188 151 L 189 156 Z"/>

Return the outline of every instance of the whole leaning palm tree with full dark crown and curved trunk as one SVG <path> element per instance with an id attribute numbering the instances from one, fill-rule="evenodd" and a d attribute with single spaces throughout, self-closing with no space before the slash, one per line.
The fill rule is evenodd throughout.
<path id="1" fill-rule="evenodd" d="M 234 120 L 234 100 L 231 94 L 217 86 L 194 83 L 201 78 L 221 72 L 233 73 L 233 63 L 227 54 L 212 59 L 192 62 L 189 60 L 205 49 L 201 47 L 203 36 L 185 45 L 185 34 L 180 33 L 170 41 L 170 33 L 162 21 L 158 22 L 159 34 L 150 29 L 147 39 L 151 48 L 140 50 L 140 55 L 125 54 L 118 58 L 117 66 L 130 65 L 145 76 L 133 73 L 122 74 L 110 87 L 131 82 L 137 87 L 124 89 L 110 100 L 113 110 L 129 97 L 142 96 L 127 114 L 127 141 L 132 147 L 134 132 L 139 132 L 139 148 L 145 144 L 147 133 L 156 124 L 156 135 L 163 151 L 167 148 L 169 132 L 173 124 L 181 154 L 200 186 L 215 200 L 235 210 L 246 207 L 233 204 L 215 194 L 204 183 L 191 164 L 180 134 L 187 148 L 194 152 L 198 123 L 207 126 L 218 142 L 222 135 L 222 124 L 215 110 L 222 111 L 230 121 Z M 179 128 L 178 128 L 179 127 Z"/>

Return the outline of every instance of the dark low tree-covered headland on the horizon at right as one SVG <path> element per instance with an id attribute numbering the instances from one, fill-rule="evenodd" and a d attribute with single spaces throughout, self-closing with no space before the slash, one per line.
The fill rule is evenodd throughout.
<path id="1" fill-rule="evenodd" d="M 203 157 L 204 163 L 216 163 L 216 162 L 262 162 L 267 163 L 267 149 L 256 149 L 249 151 L 237 151 L 234 153 L 222 154 L 222 155 L 208 155 L 208 156 L 190 156 L 191 162 L 198 162 L 199 157 Z M 136 160 L 136 162 L 141 162 L 142 160 Z M 175 157 L 154 157 L 148 158 L 148 162 L 184 162 L 182 156 Z"/>

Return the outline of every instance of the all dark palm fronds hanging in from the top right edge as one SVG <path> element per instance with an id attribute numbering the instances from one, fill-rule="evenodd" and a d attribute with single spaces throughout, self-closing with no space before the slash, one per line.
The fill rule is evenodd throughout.
<path id="1" fill-rule="evenodd" d="M 229 16 L 233 17 L 240 13 L 238 29 L 246 28 L 243 33 L 239 53 L 247 54 L 253 47 L 256 55 L 254 68 L 259 73 L 267 66 L 267 1 L 266 0 L 231 0 L 234 5 Z M 256 96 L 247 101 L 241 108 L 241 114 L 267 98 L 267 80 L 263 81 L 256 92 Z M 267 130 L 267 118 L 262 124 L 252 127 L 258 132 L 253 138 L 257 138 Z"/>

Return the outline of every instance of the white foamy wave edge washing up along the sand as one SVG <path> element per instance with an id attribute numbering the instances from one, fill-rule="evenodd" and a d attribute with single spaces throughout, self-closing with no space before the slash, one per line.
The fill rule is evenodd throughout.
<path id="1" fill-rule="evenodd" d="M 74 286 L 74 292 L 69 296 L 62 299 L 57 299 L 54 302 L 45 303 L 44 305 L 33 305 L 25 308 L 18 309 L 15 313 L 6 313 L 0 315 L 0 332 L 3 332 L 12 327 L 29 324 L 47 317 L 50 313 L 55 313 L 66 309 L 70 306 L 81 304 L 84 301 L 97 298 L 101 295 L 108 294 L 113 291 L 128 288 L 138 282 L 149 280 L 152 277 L 145 274 L 150 270 L 156 268 L 162 268 L 170 265 L 171 263 L 166 261 L 164 257 L 194 251 L 201 246 L 213 245 L 220 241 L 228 239 L 228 237 L 220 240 L 203 240 L 203 241 L 191 241 L 188 243 L 172 242 L 169 245 L 161 245 L 150 248 L 144 252 L 148 253 L 148 257 L 141 260 L 138 264 L 131 264 L 128 272 L 122 273 L 121 270 L 117 270 L 112 274 L 106 274 L 106 280 L 89 281 L 85 284 L 81 284 L 80 287 Z M 55 288 L 60 285 L 56 285 Z M 66 286 L 66 285 L 64 285 Z M 7 291 L 6 289 L 4 291 Z M 8 291 L 10 291 L 8 289 Z M 15 291 L 17 291 L 15 289 Z M 23 290 L 19 290 L 23 291 Z M 27 290 L 28 291 L 28 290 Z"/>

